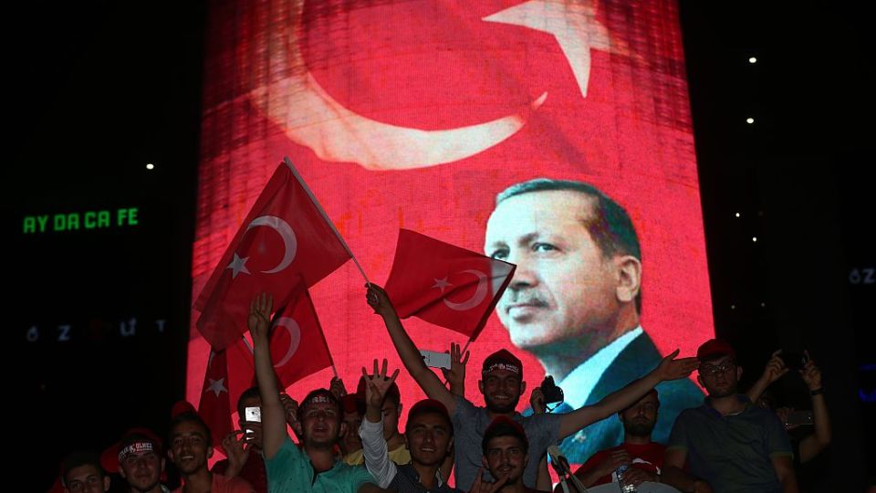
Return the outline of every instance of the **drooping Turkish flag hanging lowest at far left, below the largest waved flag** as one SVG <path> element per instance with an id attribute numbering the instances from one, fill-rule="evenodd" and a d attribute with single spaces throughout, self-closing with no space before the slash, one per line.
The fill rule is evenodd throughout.
<path id="1" fill-rule="evenodd" d="M 231 424 L 231 400 L 228 395 L 228 364 L 225 351 L 210 351 L 207 371 L 203 373 L 201 403 L 198 414 L 210 427 L 214 447 L 234 429 Z"/>

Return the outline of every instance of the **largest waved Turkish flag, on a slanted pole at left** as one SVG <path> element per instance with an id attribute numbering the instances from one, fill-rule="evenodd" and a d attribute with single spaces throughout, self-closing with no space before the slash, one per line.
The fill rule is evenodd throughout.
<path id="1" fill-rule="evenodd" d="M 261 226 L 261 227 L 259 227 Z M 194 302 L 198 330 L 223 350 L 246 330 L 259 292 L 287 299 L 297 277 L 316 284 L 352 255 L 288 159 L 277 167 Z"/>

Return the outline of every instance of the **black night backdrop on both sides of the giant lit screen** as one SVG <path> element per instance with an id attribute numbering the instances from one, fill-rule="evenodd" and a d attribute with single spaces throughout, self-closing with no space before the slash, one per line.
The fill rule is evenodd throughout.
<path id="1" fill-rule="evenodd" d="M 872 16 L 862 4 L 681 2 L 716 329 L 751 348 L 755 367 L 778 346 L 817 348 L 833 375 L 827 382 L 849 396 L 837 397 L 837 407 L 851 409 L 842 423 L 860 423 L 864 407 L 851 397 L 857 365 L 876 362 L 868 334 L 876 326 L 874 285 L 847 281 L 854 268 L 876 267 L 869 173 L 876 74 Z M 89 296 L 105 308 L 77 317 L 119 320 L 130 313 L 114 305 L 124 305 L 186 326 L 206 8 L 5 6 L 0 183 L 3 237 L 13 238 L 4 257 L 18 295 L 7 345 L 31 358 L 20 394 L 37 423 L 51 422 L 45 436 L 24 442 L 35 457 L 24 477 L 55 470 L 60 451 L 38 453 L 48 436 L 62 436 L 54 447 L 63 451 L 106 445 L 131 425 L 116 414 L 120 404 L 161 429 L 183 396 L 184 330 L 137 347 L 111 338 L 35 345 L 23 334 L 33 320 L 57 322 Z M 748 64 L 750 56 L 759 62 Z M 755 125 L 746 125 L 749 115 Z M 147 172 L 147 162 L 158 169 Z M 20 235 L 22 215 L 131 204 L 162 226 L 41 242 Z M 762 239 L 753 245 L 751 236 Z M 89 265 L 52 270 L 76 258 Z M 127 370 L 89 385 L 56 376 L 108 361 Z M 154 399 L 129 395 L 142 388 Z M 97 422 L 77 414 L 82 400 L 103 403 L 108 414 Z M 64 435 L 69 429 L 77 431 Z M 838 447 L 860 448 L 856 434 L 838 433 Z M 828 460 L 829 470 L 842 470 L 839 454 Z"/>

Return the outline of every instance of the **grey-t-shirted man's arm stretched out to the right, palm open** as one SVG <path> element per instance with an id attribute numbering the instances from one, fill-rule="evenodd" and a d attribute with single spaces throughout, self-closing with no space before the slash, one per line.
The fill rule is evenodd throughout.
<path id="1" fill-rule="evenodd" d="M 693 372 L 699 362 L 696 358 L 681 358 L 676 360 L 678 350 L 663 358 L 662 362 L 652 372 L 639 380 L 633 381 L 617 392 L 606 395 L 599 403 L 581 407 L 576 411 L 563 414 L 559 422 L 559 437 L 578 432 L 584 426 L 609 417 L 626 409 L 648 393 L 654 385 L 665 380 L 684 378 Z"/>

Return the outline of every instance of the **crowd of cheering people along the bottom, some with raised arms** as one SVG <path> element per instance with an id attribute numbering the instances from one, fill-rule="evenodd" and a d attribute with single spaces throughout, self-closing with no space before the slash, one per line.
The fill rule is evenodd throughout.
<path id="1" fill-rule="evenodd" d="M 386 360 L 375 360 L 370 372 L 362 369 L 355 393 L 347 393 L 337 378 L 300 401 L 279 389 L 268 346 L 273 300 L 261 295 L 252 302 L 248 323 L 258 384 L 240 396 L 240 429 L 222 440 L 226 458 L 208 467 L 214 454 L 211 430 L 192 406 L 178 405 L 166 443 L 147 429 L 121 438 L 118 472 L 125 488 L 170 491 L 162 484 L 169 460 L 182 479 L 174 491 L 184 493 L 545 491 L 553 487 L 548 447 L 617 414 L 623 441 L 574 471 L 584 487 L 614 481 L 643 490 L 662 484 L 697 492 L 797 491 L 796 468 L 830 441 L 821 376 L 811 358 L 799 374 L 811 393 L 813 424 L 811 433 L 795 438 L 781 419 L 789 412 L 764 398 L 767 387 L 788 372 L 781 354 L 773 355 L 748 393 L 740 393 L 735 350 L 714 339 L 695 357 L 677 358 L 673 352 L 652 372 L 569 413 L 546 412 L 536 388 L 530 394 L 534 412 L 524 416 L 516 408 L 527 383 L 523 364 L 511 351 L 496 351 L 482 362 L 481 402 L 475 404 L 464 389 L 467 353 L 452 346 L 451 368 L 443 375 L 448 388 L 422 361 L 386 292 L 369 285 L 366 299 L 384 321 L 404 371 L 427 395 L 410 407 L 403 431 L 396 383 L 401 369 L 391 371 Z M 667 443 L 652 441 L 661 408 L 655 387 L 694 371 L 707 397 L 678 415 Z M 258 409 L 258 418 L 247 412 L 251 408 Z M 100 457 L 89 452 L 65 457 L 61 480 L 71 493 L 111 488 Z M 568 482 L 555 491 L 561 487 L 576 488 Z"/>

